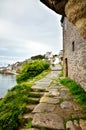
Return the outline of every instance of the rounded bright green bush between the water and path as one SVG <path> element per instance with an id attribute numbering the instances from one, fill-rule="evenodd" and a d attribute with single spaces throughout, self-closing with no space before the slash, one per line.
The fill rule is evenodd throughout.
<path id="1" fill-rule="evenodd" d="M 17 82 L 20 83 L 22 81 L 26 81 L 31 79 L 42 71 L 47 70 L 49 68 L 49 63 L 43 62 L 41 60 L 34 62 L 26 62 L 21 68 L 21 74 L 17 76 Z"/>

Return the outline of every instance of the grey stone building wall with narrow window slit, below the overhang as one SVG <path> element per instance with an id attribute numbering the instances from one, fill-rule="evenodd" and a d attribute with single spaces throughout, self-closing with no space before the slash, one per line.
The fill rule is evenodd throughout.
<path id="1" fill-rule="evenodd" d="M 86 40 L 67 18 L 63 22 L 63 50 L 65 76 L 76 81 L 86 91 Z"/>

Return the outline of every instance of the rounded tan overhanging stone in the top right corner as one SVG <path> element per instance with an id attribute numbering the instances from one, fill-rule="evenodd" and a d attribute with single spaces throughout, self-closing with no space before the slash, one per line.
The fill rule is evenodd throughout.
<path id="1" fill-rule="evenodd" d="M 86 0 L 68 0 L 65 6 L 65 13 L 70 22 L 72 22 L 86 39 Z"/>

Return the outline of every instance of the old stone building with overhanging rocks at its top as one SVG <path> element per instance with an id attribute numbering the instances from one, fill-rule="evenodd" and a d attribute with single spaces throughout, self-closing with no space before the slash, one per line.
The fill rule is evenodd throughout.
<path id="1" fill-rule="evenodd" d="M 64 75 L 76 81 L 86 91 L 86 1 L 40 1 L 63 16 Z"/>

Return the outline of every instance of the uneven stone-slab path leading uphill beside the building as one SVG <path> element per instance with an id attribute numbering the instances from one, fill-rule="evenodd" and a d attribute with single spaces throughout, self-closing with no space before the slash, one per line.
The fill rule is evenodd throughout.
<path id="1" fill-rule="evenodd" d="M 38 104 L 28 105 L 31 112 L 23 116 L 32 120 L 32 128 L 20 130 L 86 130 L 81 108 L 66 87 L 57 85 L 55 78 L 58 74 L 58 70 L 52 71 L 32 87 L 41 98 Z M 44 89 L 45 92 L 40 91 Z"/>

